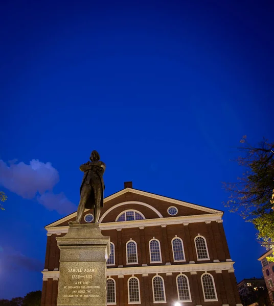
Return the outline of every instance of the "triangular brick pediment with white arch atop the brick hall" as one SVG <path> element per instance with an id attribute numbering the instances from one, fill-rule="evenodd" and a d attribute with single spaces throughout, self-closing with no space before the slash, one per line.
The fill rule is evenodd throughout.
<path id="1" fill-rule="evenodd" d="M 175 218 L 223 214 L 223 211 L 196 205 L 190 202 L 185 202 L 138 189 L 125 188 L 104 198 L 104 208 L 101 210 L 99 223 L 115 222 L 119 213 L 121 213 L 123 210 L 127 210 L 129 207 L 143 213 L 146 219 L 170 218 L 171 216 L 167 213 L 167 210 L 171 206 L 178 209 L 178 214 L 175 216 Z M 85 211 L 87 212 L 88 210 Z M 77 212 L 74 212 L 45 226 L 45 228 L 65 226 L 67 225 L 67 222 L 76 218 L 76 214 Z"/>

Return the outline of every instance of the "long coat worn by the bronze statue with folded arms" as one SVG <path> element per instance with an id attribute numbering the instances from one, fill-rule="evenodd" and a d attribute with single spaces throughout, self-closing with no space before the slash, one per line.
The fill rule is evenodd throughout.
<path id="1" fill-rule="evenodd" d="M 84 165 L 90 165 L 90 164 L 91 164 L 90 162 L 87 162 Z M 82 165 L 82 166 L 84 166 L 84 165 Z M 83 187 L 84 184 L 89 185 L 92 189 L 92 191 L 90 192 L 89 198 L 87 199 L 87 201 L 85 203 L 85 208 L 86 209 L 95 208 L 94 187 L 97 184 L 101 185 L 101 191 L 102 191 L 100 206 L 101 207 L 104 206 L 105 184 L 104 184 L 104 180 L 103 180 L 103 174 L 104 174 L 104 171 L 105 171 L 105 164 L 103 162 L 101 162 L 101 165 L 103 165 L 103 167 L 94 166 L 92 170 L 84 171 L 84 176 L 83 176 L 83 180 L 82 180 L 81 187 L 80 187 L 80 195 L 81 195 L 82 187 Z M 80 170 L 81 170 L 81 167 L 80 167 Z"/>

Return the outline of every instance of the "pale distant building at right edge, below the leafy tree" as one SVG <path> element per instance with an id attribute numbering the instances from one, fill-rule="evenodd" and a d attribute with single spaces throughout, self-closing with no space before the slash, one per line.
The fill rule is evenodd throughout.
<path id="1" fill-rule="evenodd" d="M 274 303 L 274 263 L 269 263 L 266 257 L 271 256 L 273 250 L 265 252 L 258 260 L 261 261 L 265 284 L 269 299 Z"/>

